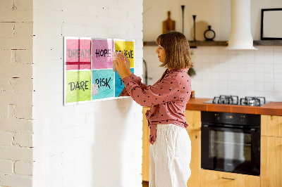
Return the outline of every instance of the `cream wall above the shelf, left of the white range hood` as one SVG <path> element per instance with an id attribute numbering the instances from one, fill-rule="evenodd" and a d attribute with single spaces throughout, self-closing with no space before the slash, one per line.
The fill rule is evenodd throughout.
<path id="1" fill-rule="evenodd" d="M 212 29 L 216 32 L 216 39 L 223 40 L 231 27 L 228 22 L 231 18 L 230 2 L 226 0 L 145 0 L 143 13 L 144 41 L 155 41 L 161 34 L 163 30 L 162 22 L 168 18 L 168 11 L 171 11 L 171 20 L 176 21 L 176 31 L 182 32 L 182 5 L 185 6 L 184 34 L 188 40 L 192 39 L 192 15 L 197 15 L 196 22 L 207 22 L 207 24 L 212 25 Z"/>

